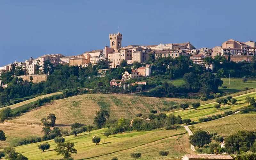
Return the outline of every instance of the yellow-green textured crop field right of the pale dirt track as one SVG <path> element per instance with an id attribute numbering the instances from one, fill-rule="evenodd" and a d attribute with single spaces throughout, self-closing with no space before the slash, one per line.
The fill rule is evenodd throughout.
<path id="1" fill-rule="evenodd" d="M 198 130 L 217 132 L 221 136 L 228 136 L 239 130 L 255 131 L 256 113 L 236 114 L 227 116 L 210 122 L 199 123 L 189 128 L 195 132 Z M 251 123 L 250 123 L 251 122 Z"/>

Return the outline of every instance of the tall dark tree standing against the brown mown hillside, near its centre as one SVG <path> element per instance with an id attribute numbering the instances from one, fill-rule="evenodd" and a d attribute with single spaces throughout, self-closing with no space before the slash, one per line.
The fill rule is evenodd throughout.
<path id="1" fill-rule="evenodd" d="M 104 126 L 106 120 L 109 118 L 109 112 L 106 109 L 100 109 L 96 112 L 93 123 L 100 129 Z"/>

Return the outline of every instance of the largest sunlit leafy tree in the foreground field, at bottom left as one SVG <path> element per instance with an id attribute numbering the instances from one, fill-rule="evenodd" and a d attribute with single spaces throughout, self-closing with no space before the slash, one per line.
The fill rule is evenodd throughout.
<path id="1" fill-rule="evenodd" d="M 62 155 L 64 158 L 70 158 L 73 153 L 77 154 L 75 143 L 72 142 L 58 143 L 55 147 L 55 151 L 57 155 Z"/>

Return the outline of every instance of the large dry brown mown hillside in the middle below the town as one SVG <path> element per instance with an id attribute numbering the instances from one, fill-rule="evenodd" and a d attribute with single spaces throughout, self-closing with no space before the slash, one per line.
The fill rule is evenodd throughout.
<path id="1" fill-rule="evenodd" d="M 50 105 L 33 109 L 21 116 L 8 119 L 9 123 L 38 124 L 49 113 L 57 117 L 57 126 L 70 125 L 75 122 L 92 124 L 96 111 L 104 108 L 110 111 L 112 118 L 132 118 L 137 113 L 149 113 L 151 109 L 159 111 L 164 106 L 195 100 L 175 98 L 135 97 L 120 94 L 84 94 L 62 100 Z"/>

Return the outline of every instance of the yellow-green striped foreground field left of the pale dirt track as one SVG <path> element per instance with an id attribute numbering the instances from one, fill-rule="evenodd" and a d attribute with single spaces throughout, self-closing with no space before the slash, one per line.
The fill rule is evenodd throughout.
<path id="1" fill-rule="evenodd" d="M 132 132 L 131 134 L 121 133 L 110 135 L 109 138 L 105 138 L 104 140 L 103 132 L 105 130 L 106 128 L 92 131 L 90 137 L 88 132 L 78 134 L 77 137 L 74 137 L 74 135 L 65 137 L 66 141 L 72 141 L 75 143 L 77 154 L 72 156 L 75 159 L 88 159 L 94 157 L 97 157 L 97 159 L 98 157 L 99 159 L 110 159 L 107 158 L 108 156 L 105 156 L 109 154 L 109 157 L 118 155 L 118 159 L 126 159 L 131 152 L 141 151 L 141 159 L 146 159 L 149 155 L 154 157 L 154 159 L 160 159 L 156 153 L 161 149 L 170 149 L 168 157 L 183 156 L 184 154 L 189 153 L 188 136 L 185 134 L 186 130 L 184 127 L 179 127 L 177 129 L 182 149 L 184 148 L 183 151 L 178 147 L 178 141 L 175 140 L 175 130 L 158 129 L 147 132 Z M 92 143 L 92 135 L 96 135 L 101 138 L 98 146 L 95 146 L 95 144 Z M 60 158 L 61 156 L 57 156 L 54 151 L 56 146 L 54 140 L 48 140 L 45 142 L 50 144 L 50 149 L 42 154 L 43 159 Z M 40 160 L 41 150 L 39 150 L 37 146 L 38 144 L 34 143 L 16 147 L 16 150 L 27 156 L 28 159 Z"/>

